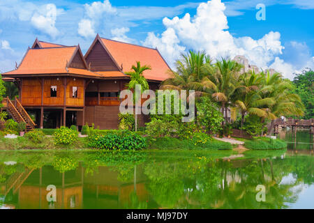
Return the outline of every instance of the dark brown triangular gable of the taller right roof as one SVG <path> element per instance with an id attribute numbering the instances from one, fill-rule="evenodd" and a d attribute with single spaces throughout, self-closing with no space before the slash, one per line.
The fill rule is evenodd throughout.
<path id="1" fill-rule="evenodd" d="M 96 36 L 94 42 L 85 54 L 87 66 L 93 71 L 121 71 L 118 64 L 107 51 L 99 36 Z"/>

